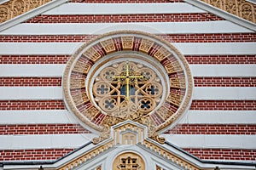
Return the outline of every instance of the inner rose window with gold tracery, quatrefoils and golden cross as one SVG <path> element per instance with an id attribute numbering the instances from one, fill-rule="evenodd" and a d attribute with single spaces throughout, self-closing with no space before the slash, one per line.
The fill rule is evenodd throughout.
<path id="1" fill-rule="evenodd" d="M 122 61 L 104 67 L 93 83 L 93 98 L 103 112 L 127 118 L 148 115 L 163 94 L 161 79 L 147 65 Z"/>

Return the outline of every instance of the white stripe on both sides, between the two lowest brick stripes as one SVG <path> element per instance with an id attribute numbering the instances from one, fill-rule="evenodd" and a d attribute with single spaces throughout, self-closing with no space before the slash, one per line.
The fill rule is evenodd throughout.
<path id="1" fill-rule="evenodd" d="M 167 141 L 172 141 L 172 144 L 182 148 L 256 149 L 256 135 L 162 135 L 166 137 Z M 93 137 L 96 137 L 93 133 L 1 135 L 0 150 L 78 148 L 89 142 Z"/>

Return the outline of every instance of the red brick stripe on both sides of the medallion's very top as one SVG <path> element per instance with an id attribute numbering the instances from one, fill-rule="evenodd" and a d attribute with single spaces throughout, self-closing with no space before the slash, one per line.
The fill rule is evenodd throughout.
<path id="1" fill-rule="evenodd" d="M 87 42 L 91 35 L 0 36 L 0 42 Z M 168 42 L 256 42 L 256 34 L 169 34 L 160 35 Z"/>

